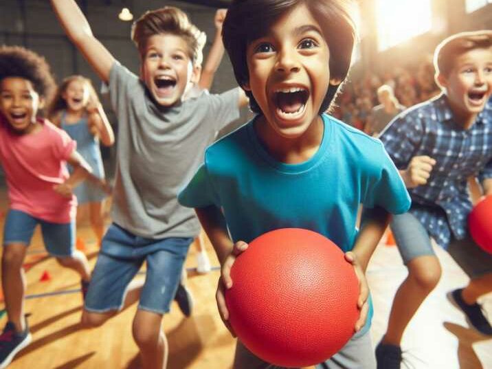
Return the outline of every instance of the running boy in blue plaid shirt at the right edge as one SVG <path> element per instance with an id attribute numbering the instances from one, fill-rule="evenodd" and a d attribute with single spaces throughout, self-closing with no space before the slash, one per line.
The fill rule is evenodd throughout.
<path id="1" fill-rule="evenodd" d="M 492 31 L 462 32 L 434 52 L 443 93 L 399 115 L 381 141 L 399 168 L 412 208 L 391 223 L 408 276 L 396 292 L 388 329 L 377 347 L 378 368 L 400 368 L 405 328 L 440 279 L 430 237 L 470 276 L 449 298 L 484 335 L 492 328 L 480 296 L 492 291 L 492 256 L 470 238 L 467 178 L 492 194 Z M 487 103 L 488 102 L 488 103 Z"/>

